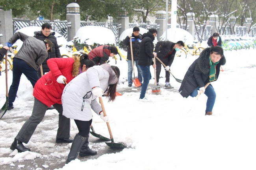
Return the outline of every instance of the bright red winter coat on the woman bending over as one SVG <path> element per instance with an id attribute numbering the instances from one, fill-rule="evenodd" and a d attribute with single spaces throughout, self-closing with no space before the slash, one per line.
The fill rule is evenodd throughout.
<path id="1" fill-rule="evenodd" d="M 80 61 L 77 61 L 80 65 Z M 72 76 L 73 58 L 50 58 L 47 60 L 47 64 L 50 71 L 43 75 L 39 80 L 37 80 L 33 96 L 47 105 L 48 107 L 53 104 L 61 104 L 61 95 L 65 84 L 60 84 L 57 82 L 57 78 L 63 75 L 69 83 L 74 77 Z M 78 72 L 79 73 L 79 72 Z"/>

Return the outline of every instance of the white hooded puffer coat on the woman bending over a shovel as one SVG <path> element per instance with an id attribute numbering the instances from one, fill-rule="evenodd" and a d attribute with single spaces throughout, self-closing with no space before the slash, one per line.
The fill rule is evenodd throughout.
<path id="1" fill-rule="evenodd" d="M 118 78 L 109 64 L 93 66 L 74 78 L 63 90 L 63 115 L 70 119 L 89 121 L 93 114 L 102 111 L 96 96 L 91 92 L 94 87 L 106 91 L 109 84 L 115 84 Z"/>

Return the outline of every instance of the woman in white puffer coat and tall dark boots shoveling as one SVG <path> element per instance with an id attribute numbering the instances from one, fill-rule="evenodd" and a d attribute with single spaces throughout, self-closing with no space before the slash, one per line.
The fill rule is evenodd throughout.
<path id="1" fill-rule="evenodd" d="M 78 152 L 80 157 L 97 154 L 88 146 L 93 118 L 91 109 L 100 115 L 101 119 L 108 122 L 108 117 L 104 117 L 102 108 L 96 99 L 105 93 L 109 102 L 115 101 L 119 76 L 118 67 L 102 64 L 87 69 L 64 88 L 62 94 L 63 115 L 74 119 L 79 131 L 73 139 L 66 163 L 76 159 Z"/>

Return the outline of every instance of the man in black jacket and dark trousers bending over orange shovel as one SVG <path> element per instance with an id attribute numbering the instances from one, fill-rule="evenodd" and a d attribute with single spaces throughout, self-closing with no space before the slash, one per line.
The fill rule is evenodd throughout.
<path id="1" fill-rule="evenodd" d="M 173 88 L 170 84 L 170 72 L 168 71 L 173 64 L 176 51 L 179 51 L 185 46 L 184 42 L 178 41 L 176 43 L 171 41 L 158 41 L 154 52 L 157 57 L 165 64 L 165 88 Z M 156 59 L 156 84 L 159 86 L 159 77 L 161 72 L 161 62 Z"/>

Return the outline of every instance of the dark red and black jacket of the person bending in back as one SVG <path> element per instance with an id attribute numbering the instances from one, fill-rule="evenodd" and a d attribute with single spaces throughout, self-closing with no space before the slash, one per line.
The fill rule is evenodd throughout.
<path id="1" fill-rule="evenodd" d="M 101 64 L 105 64 L 106 61 L 108 61 L 110 53 L 111 53 L 111 46 L 102 45 L 92 49 L 89 52 L 88 57 L 89 59 L 93 60 L 95 64 L 101 65 Z"/>

